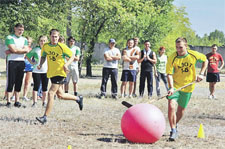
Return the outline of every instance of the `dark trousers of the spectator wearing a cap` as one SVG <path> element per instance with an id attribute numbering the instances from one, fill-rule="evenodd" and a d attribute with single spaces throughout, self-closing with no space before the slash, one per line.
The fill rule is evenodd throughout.
<path id="1" fill-rule="evenodd" d="M 102 84 L 101 84 L 101 94 L 105 96 L 106 94 L 106 86 L 111 76 L 111 93 L 113 96 L 117 95 L 117 76 L 118 76 L 118 69 L 117 68 L 103 68 L 102 69 Z"/>

